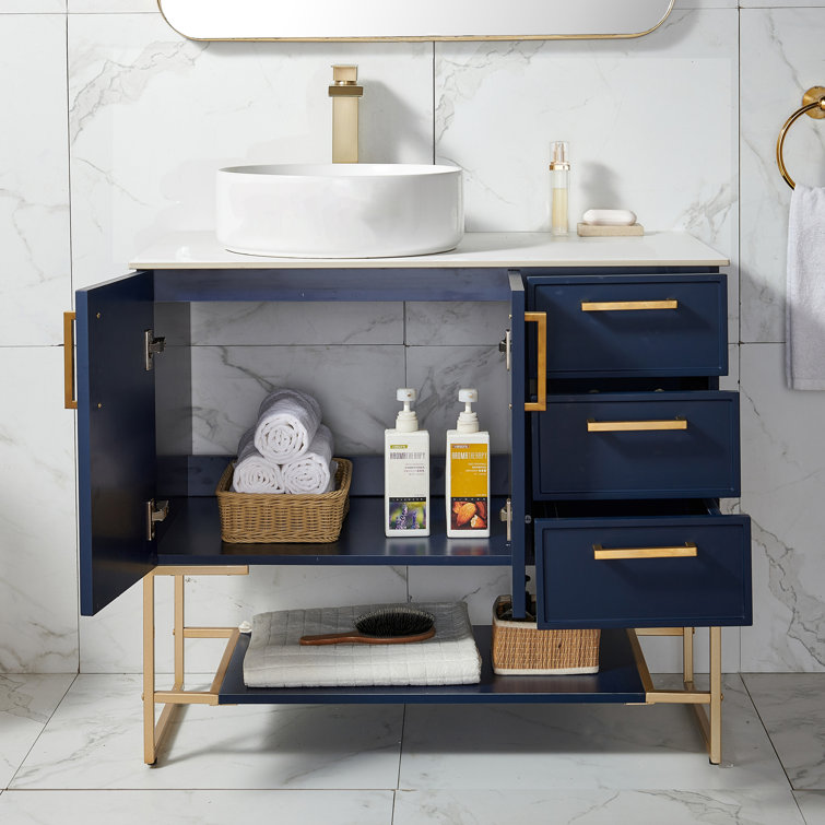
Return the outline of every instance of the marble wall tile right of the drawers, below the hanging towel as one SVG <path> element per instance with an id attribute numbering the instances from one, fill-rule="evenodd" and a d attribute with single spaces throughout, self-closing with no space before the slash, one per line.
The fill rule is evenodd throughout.
<path id="1" fill-rule="evenodd" d="M 825 670 L 825 397 L 785 388 L 782 344 L 741 347 L 742 510 L 753 535 L 754 625 L 741 670 Z"/>

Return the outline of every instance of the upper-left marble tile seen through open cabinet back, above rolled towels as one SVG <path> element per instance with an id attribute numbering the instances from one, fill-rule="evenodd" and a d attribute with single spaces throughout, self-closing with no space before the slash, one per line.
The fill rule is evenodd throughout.
<path id="1" fill-rule="evenodd" d="M 400 344 L 403 304 L 192 304 L 192 343 L 232 345 Z"/>

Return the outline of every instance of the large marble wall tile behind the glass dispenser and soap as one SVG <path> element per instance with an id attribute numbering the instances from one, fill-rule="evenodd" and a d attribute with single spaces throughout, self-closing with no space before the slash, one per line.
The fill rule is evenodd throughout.
<path id="1" fill-rule="evenodd" d="M 635 40 L 436 44 L 436 160 L 464 169 L 468 229 L 546 231 L 550 144 L 569 141 L 573 231 L 632 209 L 729 257 L 736 341 L 736 50 L 735 9 L 677 10 Z"/>

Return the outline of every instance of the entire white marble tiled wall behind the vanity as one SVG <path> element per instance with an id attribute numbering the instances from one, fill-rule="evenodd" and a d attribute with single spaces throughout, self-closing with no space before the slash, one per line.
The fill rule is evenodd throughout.
<path id="1" fill-rule="evenodd" d="M 823 24 L 822 2 L 683 0 L 652 35 L 615 43 L 199 44 L 176 35 L 154 0 L 0 0 L 0 102 L 11 114 L 0 133 L 0 360 L 11 388 L 0 400 L 0 449 L 9 476 L 40 496 L 15 492 L 0 504 L 0 671 L 139 669 L 137 589 L 78 627 L 60 311 L 72 290 L 122 273 L 158 235 L 209 228 L 216 167 L 327 160 L 333 62 L 357 62 L 367 90 L 364 160 L 458 163 L 471 229 L 545 228 L 550 142 L 568 140 L 574 220 L 589 207 L 627 207 L 651 229 L 687 229 L 731 258 L 755 624 L 726 632 L 724 667 L 825 668 L 816 541 L 825 401 L 782 387 L 789 190 L 773 161 L 802 92 L 825 85 Z M 822 182 L 825 128 L 810 121 L 794 132 L 789 166 Z M 455 410 L 432 399 L 476 384 L 494 443 L 506 444 L 495 351 L 506 307 L 294 309 L 193 308 L 198 451 L 231 450 L 270 384 L 308 380 L 309 345 L 325 350 L 315 389 L 342 450 L 379 448 L 391 390 L 406 382 L 425 390 L 422 417 L 434 433 Z M 480 321 L 468 326 L 468 316 Z M 275 332 L 262 341 L 259 330 Z M 450 368 L 433 370 L 434 360 Z M 353 386 L 347 365 L 356 363 L 368 378 Z M 48 523 L 37 518 L 40 499 L 56 514 Z M 213 623 L 296 599 L 453 594 L 485 621 L 508 587 L 496 568 L 263 568 L 249 579 L 196 580 L 190 604 L 222 612 L 204 620 Z M 168 611 L 163 589 L 160 601 Z M 31 629 L 12 633 L 12 624 Z M 648 647 L 653 670 L 675 669 L 670 649 Z"/>

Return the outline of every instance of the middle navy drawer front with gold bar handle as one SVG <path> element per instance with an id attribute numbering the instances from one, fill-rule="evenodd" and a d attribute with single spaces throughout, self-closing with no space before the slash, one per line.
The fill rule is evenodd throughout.
<path id="1" fill-rule="evenodd" d="M 551 396 L 533 448 L 537 499 L 738 496 L 739 396 Z"/>

